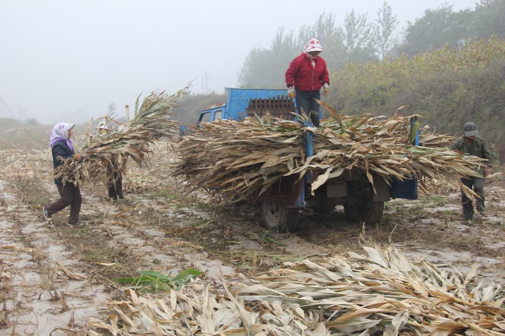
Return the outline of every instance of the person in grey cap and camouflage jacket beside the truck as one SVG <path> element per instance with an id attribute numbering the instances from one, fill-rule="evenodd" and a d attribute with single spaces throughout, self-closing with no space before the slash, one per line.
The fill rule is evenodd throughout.
<path id="1" fill-rule="evenodd" d="M 452 149 L 459 150 L 466 155 L 474 155 L 480 158 L 487 159 L 487 165 L 480 167 L 479 174 L 486 176 L 489 173 L 489 167 L 491 166 L 491 155 L 487 147 L 486 140 L 479 136 L 479 130 L 474 122 L 468 122 L 463 128 L 463 137 L 456 140 L 452 144 Z M 480 196 L 480 198 L 475 198 L 475 203 L 477 203 L 477 210 L 479 210 L 482 216 L 486 215 L 486 207 L 484 204 L 484 178 L 469 177 L 468 179 L 461 179 L 461 182 L 472 189 Z M 472 220 L 474 215 L 474 209 L 472 205 L 472 200 L 461 190 L 461 203 L 463 205 L 463 218 L 465 220 Z"/>

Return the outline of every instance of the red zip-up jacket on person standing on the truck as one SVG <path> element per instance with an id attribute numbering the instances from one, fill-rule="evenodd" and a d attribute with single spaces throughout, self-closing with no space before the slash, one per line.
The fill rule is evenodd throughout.
<path id="1" fill-rule="evenodd" d="M 316 57 L 316 66 L 313 67 L 311 58 L 301 53 L 289 63 L 286 71 L 286 85 L 301 91 L 316 91 L 321 89 L 324 83 L 330 84 L 330 76 L 326 69 L 326 62 L 322 57 Z"/>

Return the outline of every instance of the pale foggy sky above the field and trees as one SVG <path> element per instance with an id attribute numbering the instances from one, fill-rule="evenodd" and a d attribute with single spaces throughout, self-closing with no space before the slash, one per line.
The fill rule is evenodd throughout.
<path id="1" fill-rule="evenodd" d="M 401 28 L 442 3 L 387 2 Z M 297 32 L 323 12 L 341 24 L 352 9 L 373 19 L 382 3 L 0 0 L 0 117 L 21 112 L 47 124 L 85 122 L 105 115 L 111 101 L 124 115 L 141 92 L 174 92 L 196 79 L 191 90 L 201 93 L 206 72 L 209 90 L 220 93 L 236 86 L 248 51 L 269 47 L 279 26 Z M 449 4 L 459 10 L 475 1 Z"/>

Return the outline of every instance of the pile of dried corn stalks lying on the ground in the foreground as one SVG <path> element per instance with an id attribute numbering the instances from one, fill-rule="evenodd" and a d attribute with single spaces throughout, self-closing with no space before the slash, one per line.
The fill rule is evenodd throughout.
<path id="1" fill-rule="evenodd" d="M 130 290 L 105 321 L 88 324 L 114 335 L 505 334 L 505 292 L 475 283 L 475 267 L 451 274 L 391 247 L 365 250 L 286 262 L 231 289 L 196 282 L 158 296 Z"/>

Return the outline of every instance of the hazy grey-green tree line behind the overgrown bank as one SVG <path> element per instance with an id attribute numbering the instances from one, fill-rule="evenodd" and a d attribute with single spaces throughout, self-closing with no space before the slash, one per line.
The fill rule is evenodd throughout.
<path id="1" fill-rule="evenodd" d="M 249 51 L 238 73 L 239 87 L 283 88 L 289 62 L 310 37 L 323 43 L 323 57 L 328 67 L 336 70 L 349 63 L 395 59 L 444 45 L 459 47 L 492 35 L 505 38 L 505 0 L 480 0 L 475 9 L 460 11 L 443 4 L 407 22 L 401 33 L 395 33 L 399 20 L 387 2 L 374 17 L 353 10 L 345 14 L 342 25 L 337 25 L 335 18 L 333 13 L 323 13 L 313 25 L 300 27 L 296 34 L 279 27 L 269 48 Z"/>

